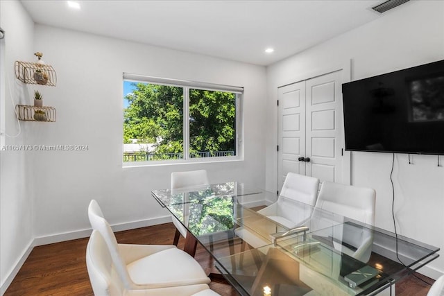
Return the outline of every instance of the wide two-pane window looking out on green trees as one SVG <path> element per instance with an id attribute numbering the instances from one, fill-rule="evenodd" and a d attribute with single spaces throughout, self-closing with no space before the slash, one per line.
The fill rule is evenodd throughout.
<path id="1" fill-rule="evenodd" d="M 124 74 L 123 162 L 236 158 L 242 90 Z"/>

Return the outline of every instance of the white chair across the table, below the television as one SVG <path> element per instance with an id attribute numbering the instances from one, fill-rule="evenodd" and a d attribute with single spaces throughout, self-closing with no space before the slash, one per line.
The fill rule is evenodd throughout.
<path id="1" fill-rule="evenodd" d="M 351 218 L 364 225 L 374 225 L 375 223 L 375 199 L 374 189 L 344 185 L 339 183 L 324 181 L 319 192 L 316 208 L 330 211 L 340 216 Z M 316 216 L 316 212 L 314 214 Z M 321 229 L 327 225 L 322 225 L 322 219 L 314 217 L 312 219 L 318 225 L 310 227 L 310 231 Z M 371 255 L 373 235 L 366 227 L 352 227 L 345 224 L 341 240 L 343 244 L 334 242 L 336 250 L 352 256 L 362 262 L 368 262 Z M 352 248 L 348 247 L 352 246 Z"/>

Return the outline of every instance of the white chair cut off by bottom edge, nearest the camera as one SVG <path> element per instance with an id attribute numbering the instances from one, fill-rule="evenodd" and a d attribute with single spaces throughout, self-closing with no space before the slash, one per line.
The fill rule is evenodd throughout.
<path id="1" fill-rule="evenodd" d="M 86 249 L 86 265 L 92 290 L 96 296 L 219 295 L 210 290 L 207 284 L 137 290 L 125 288 L 121 278 L 117 274 L 110 250 L 108 250 L 108 245 L 98 230 L 93 230 L 89 238 Z"/>

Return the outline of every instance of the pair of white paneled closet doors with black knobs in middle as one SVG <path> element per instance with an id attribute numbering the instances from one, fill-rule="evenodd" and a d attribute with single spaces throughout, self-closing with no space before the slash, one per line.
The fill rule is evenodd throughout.
<path id="1" fill-rule="evenodd" d="M 350 170 L 350 156 L 343 151 L 341 75 L 335 71 L 279 88 L 278 189 L 289 172 L 350 184 L 343 172 Z"/>

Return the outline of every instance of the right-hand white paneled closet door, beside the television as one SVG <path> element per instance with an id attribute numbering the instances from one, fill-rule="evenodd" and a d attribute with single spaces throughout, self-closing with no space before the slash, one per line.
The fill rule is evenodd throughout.
<path id="1" fill-rule="evenodd" d="M 307 80 L 307 175 L 343 183 L 341 71 Z"/>

